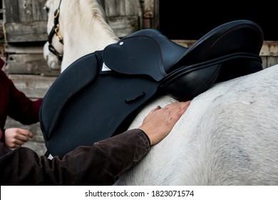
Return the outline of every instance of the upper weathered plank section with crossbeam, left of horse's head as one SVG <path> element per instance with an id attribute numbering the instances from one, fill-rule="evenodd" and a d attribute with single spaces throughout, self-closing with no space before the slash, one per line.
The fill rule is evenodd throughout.
<path id="1" fill-rule="evenodd" d="M 4 0 L 6 41 L 46 41 L 46 0 Z"/>

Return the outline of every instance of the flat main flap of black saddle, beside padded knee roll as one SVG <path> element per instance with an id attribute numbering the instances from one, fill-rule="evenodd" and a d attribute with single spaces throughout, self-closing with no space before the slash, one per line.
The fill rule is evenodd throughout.
<path id="1" fill-rule="evenodd" d="M 48 152 L 63 156 L 78 146 L 91 146 L 125 131 L 157 89 L 158 83 L 152 80 L 100 74 L 86 90 L 64 100 L 66 107 L 60 118 L 52 121 L 56 126 L 46 139 Z"/>

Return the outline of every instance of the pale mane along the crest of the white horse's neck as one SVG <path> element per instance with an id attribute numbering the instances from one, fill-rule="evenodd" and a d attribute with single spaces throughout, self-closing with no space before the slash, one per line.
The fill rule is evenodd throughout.
<path id="1" fill-rule="evenodd" d="M 113 39 L 118 40 L 113 29 L 108 25 L 108 19 L 105 14 L 105 8 L 107 8 L 105 0 L 88 0 L 87 2 L 88 6 L 91 8 L 91 24 L 98 21 Z"/>

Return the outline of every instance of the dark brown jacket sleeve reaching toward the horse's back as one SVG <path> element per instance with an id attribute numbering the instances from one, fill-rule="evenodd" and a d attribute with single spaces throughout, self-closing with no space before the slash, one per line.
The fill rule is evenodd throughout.
<path id="1" fill-rule="evenodd" d="M 1 185 L 112 185 L 148 153 L 148 137 L 132 129 L 52 160 L 0 144 Z"/>

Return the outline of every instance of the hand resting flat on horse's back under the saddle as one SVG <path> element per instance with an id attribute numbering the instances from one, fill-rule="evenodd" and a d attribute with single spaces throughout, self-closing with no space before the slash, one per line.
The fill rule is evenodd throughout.
<path id="1" fill-rule="evenodd" d="M 173 129 L 176 122 L 185 113 L 191 101 L 174 102 L 164 108 L 157 106 L 143 120 L 139 127 L 150 139 L 150 145 L 158 144 Z"/>

